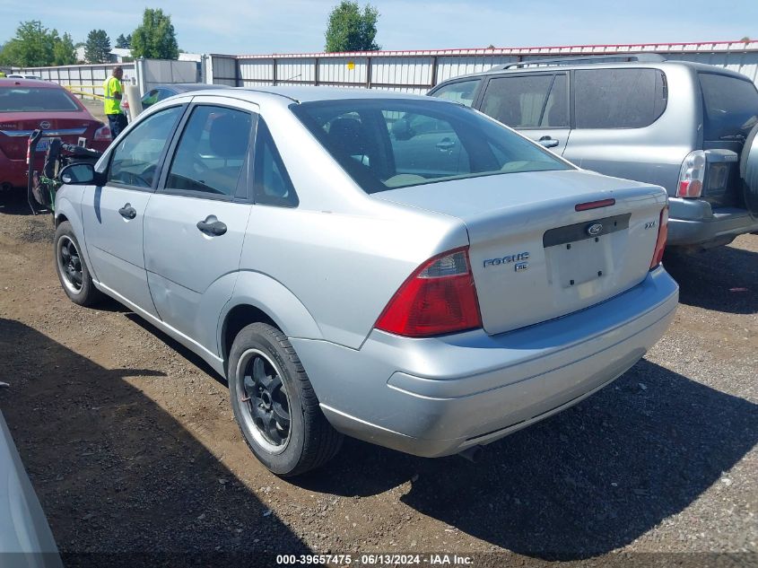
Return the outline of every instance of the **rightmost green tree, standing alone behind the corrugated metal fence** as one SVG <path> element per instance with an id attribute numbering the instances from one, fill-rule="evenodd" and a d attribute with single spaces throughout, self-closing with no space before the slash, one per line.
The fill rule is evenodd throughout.
<path id="1" fill-rule="evenodd" d="M 371 4 L 361 6 L 357 2 L 342 0 L 329 14 L 325 50 L 375 51 L 381 49 L 374 38 L 377 35 L 379 10 Z"/>

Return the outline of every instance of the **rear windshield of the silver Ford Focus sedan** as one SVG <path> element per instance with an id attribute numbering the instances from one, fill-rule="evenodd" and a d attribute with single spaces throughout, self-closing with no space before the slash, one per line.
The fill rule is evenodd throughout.
<path id="1" fill-rule="evenodd" d="M 367 193 L 572 169 L 475 110 L 440 100 L 327 100 L 290 108 Z"/>

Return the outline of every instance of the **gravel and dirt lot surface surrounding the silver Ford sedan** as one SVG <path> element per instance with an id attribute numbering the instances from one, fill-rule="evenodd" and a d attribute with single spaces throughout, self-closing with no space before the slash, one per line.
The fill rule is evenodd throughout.
<path id="1" fill-rule="evenodd" d="M 0 410 L 64 553 L 758 560 L 756 235 L 667 259 L 681 306 L 658 345 L 480 463 L 348 440 L 283 481 L 248 451 L 205 363 L 115 302 L 67 301 L 52 232 L 0 195 Z"/>

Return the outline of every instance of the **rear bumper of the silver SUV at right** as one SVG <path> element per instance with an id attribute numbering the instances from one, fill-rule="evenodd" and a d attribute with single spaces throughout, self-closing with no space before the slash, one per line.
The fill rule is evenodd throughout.
<path id="1" fill-rule="evenodd" d="M 711 209 L 701 199 L 669 198 L 667 244 L 672 247 L 710 249 L 728 244 L 737 235 L 758 231 L 758 219 L 746 209 Z"/>

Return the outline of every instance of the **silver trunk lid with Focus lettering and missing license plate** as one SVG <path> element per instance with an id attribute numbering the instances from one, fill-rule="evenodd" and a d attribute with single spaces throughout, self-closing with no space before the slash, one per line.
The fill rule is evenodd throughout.
<path id="1" fill-rule="evenodd" d="M 577 170 L 424 184 L 374 197 L 466 223 L 489 334 L 583 310 L 639 284 L 666 205 L 656 186 Z M 606 205 L 577 211 L 601 201 Z"/>

